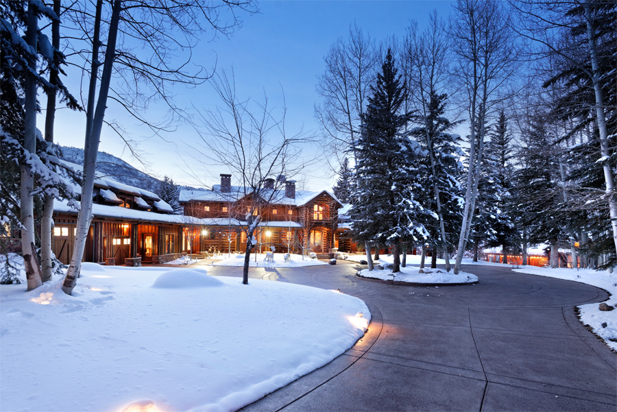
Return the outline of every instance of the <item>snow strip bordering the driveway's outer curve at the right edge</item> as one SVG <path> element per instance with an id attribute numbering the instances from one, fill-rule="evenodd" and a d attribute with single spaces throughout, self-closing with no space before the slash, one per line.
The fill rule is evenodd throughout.
<path id="1" fill-rule="evenodd" d="M 599 287 L 611 293 L 609 300 L 605 303 L 615 307 L 617 304 L 617 274 L 609 274 L 608 271 L 596 271 L 592 269 L 566 269 L 558 267 L 521 266 L 520 269 L 513 271 L 521 274 L 532 274 L 538 276 L 548 276 L 550 278 L 574 280 Z M 581 322 L 593 328 L 594 332 L 600 336 L 606 344 L 613 350 L 617 350 L 617 311 L 603 312 L 597 303 L 584 304 L 579 306 L 581 311 Z M 602 324 L 606 323 L 605 328 Z"/>

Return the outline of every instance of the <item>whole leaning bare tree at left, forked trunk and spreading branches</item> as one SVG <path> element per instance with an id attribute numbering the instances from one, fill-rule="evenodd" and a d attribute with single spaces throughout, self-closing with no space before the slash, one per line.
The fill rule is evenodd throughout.
<path id="1" fill-rule="evenodd" d="M 155 132 L 164 130 L 165 126 L 150 123 L 140 112 L 147 109 L 150 101 L 160 99 L 167 104 L 172 118 L 182 110 L 173 103 L 167 92 L 168 84 L 186 84 L 195 86 L 206 81 L 207 76 L 186 72 L 186 63 L 191 59 L 191 49 L 195 46 L 198 35 L 204 34 L 206 28 L 212 29 L 214 38 L 222 34 L 229 36 L 240 21 L 234 8 L 252 12 L 251 0 L 225 0 L 220 2 L 187 1 L 185 3 L 150 3 L 148 1 L 115 0 L 109 18 L 104 68 L 98 84 L 99 47 L 101 40 L 101 22 L 103 2 L 97 1 L 95 16 L 92 19 L 87 5 L 84 10 L 75 12 L 75 25 L 81 30 L 82 40 L 90 45 L 91 51 L 79 49 L 77 53 L 90 62 L 90 84 L 88 90 L 88 109 L 86 110 L 86 143 L 84 148 L 84 185 L 82 186 L 82 207 L 77 216 L 77 234 L 73 247 L 71 265 L 66 272 L 62 290 L 71 294 L 79 276 L 82 256 L 92 219 L 92 190 L 95 178 L 98 145 L 101 129 L 105 122 L 104 114 L 108 95 L 137 119 L 144 121 Z M 230 21 L 221 19 L 222 10 L 228 10 Z M 90 32 L 93 29 L 93 36 Z M 118 36 L 121 40 L 131 38 L 141 42 L 143 47 L 130 45 L 116 47 Z M 187 51 L 187 61 L 182 61 L 172 50 Z M 143 50 L 151 52 L 150 56 L 140 56 Z M 120 82 L 110 84 L 112 73 L 119 73 Z M 98 84 L 98 86 L 97 86 Z M 143 92 L 149 90 L 150 94 Z M 95 96 L 98 91 L 97 106 L 94 109 Z M 169 120 L 166 120 L 169 125 Z"/>

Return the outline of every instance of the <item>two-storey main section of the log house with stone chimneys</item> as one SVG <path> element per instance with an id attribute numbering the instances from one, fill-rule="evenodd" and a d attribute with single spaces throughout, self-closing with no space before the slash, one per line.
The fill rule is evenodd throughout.
<path id="1" fill-rule="evenodd" d="M 337 211 L 343 205 L 337 197 L 328 190 L 296 191 L 295 180 L 285 181 L 285 189 L 277 190 L 274 182 L 266 179 L 263 184 L 268 199 L 255 199 L 250 189 L 232 186 L 231 175 L 221 174 L 221 184 L 209 191 L 180 191 L 179 201 L 184 214 L 195 218 L 242 221 L 246 213 L 259 215 L 258 251 L 275 247 L 277 252 L 312 251 L 325 255 L 339 247 L 344 229 L 338 230 Z M 245 233 L 238 229 L 208 228 L 216 230 L 223 241 L 206 239 L 205 244 L 222 252 L 244 252 Z"/>

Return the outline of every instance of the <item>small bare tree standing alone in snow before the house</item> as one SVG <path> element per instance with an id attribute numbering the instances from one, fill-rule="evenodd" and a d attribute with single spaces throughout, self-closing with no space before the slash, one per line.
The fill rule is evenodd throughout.
<path id="1" fill-rule="evenodd" d="M 269 188 L 267 179 L 278 176 L 292 177 L 307 164 L 301 155 L 301 145 L 313 140 L 300 130 L 288 135 L 285 128 L 287 108 L 280 112 L 263 103 L 251 106 L 250 100 L 241 100 L 237 95 L 233 73 L 225 71 L 211 80 L 221 106 L 202 110 L 195 130 L 202 137 L 199 147 L 193 147 L 214 165 L 226 167 L 239 182 L 232 192 L 241 199 L 244 210 L 239 220 L 246 235 L 246 250 L 243 268 L 243 284 L 248 284 L 248 269 L 251 251 L 258 245 L 256 234 L 263 208 L 282 199 L 286 184 L 277 178 Z M 283 191 L 284 193 L 284 191 Z"/>

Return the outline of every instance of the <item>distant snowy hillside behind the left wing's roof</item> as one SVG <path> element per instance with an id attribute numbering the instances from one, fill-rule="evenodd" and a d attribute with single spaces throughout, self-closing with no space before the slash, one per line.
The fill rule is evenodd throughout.
<path id="1" fill-rule="evenodd" d="M 60 149 L 60 158 L 76 165 L 84 164 L 84 149 L 77 147 L 56 146 Z M 153 178 L 143 171 L 139 171 L 124 160 L 105 152 L 99 152 L 97 158 L 97 171 L 101 175 L 108 176 L 118 182 L 129 184 L 140 189 L 156 192 L 160 180 Z M 196 190 L 190 186 L 180 186 L 180 189 Z"/>

